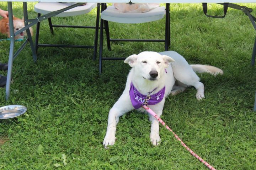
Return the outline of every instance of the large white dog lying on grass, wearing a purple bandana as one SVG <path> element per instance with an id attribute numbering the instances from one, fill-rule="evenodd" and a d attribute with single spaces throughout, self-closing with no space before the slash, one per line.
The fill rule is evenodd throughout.
<path id="1" fill-rule="evenodd" d="M 189 65 L 187 61 L 175 51 L 156 53 L 145 51 L 138 55 L 131 55 L 124 60 L 132 69 L 127 78 L 123 94 L 110 109 L 108 114 L 108 126 L 103 141 L 105 148 L 113 145 L 116 137 L 116 125 L 119 117 L 130 110 L 143 111 L 141 105 L 151 108 L 159 117 L 162 114 L 165 98 L 178 94 L 188 86 L 197 89 L 196 98 L 204 98 L 204 85 L 199 82 L 195 72 L 209 72 L 212 75 L 223 74 L 217 67 L 207 65 Z M 194 72 L 195 71 L 195 72 Z M 150 101 L 151 100 L 151 101 Z M 150 115 L 151 132 L 150 140 L 153 145 L 160 142 L 159 122 Z"/>

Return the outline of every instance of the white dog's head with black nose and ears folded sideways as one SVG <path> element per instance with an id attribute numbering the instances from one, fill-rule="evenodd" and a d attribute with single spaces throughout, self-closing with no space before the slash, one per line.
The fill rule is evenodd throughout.
<path id="1" fill-rule="evenodd" d="M 161 78 L 162 74 L 165 73 L 165 68 L 173 61 L 174 59 L 167 55 L 161 55 L 153 51 L 144 51 L 138 55 L 133 54 L 127 57 L 124 63 L 133 67 L 137 76 L 155 81 Z"/>

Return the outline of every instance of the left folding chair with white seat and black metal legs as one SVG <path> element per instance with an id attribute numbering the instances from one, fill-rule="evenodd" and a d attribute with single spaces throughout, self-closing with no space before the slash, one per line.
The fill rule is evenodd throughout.
<path id="1" fill-rule="evenodd" d="M 60 2 L 38 2 L 34 5 L 34 11 L 38 13 L 38 17 L 41 14 L 46 15 L 50 12 L 58 11 L 73 5 L 75 3 L 60 3 Z M 39 30 L 40 30 L 40 22 L 37 23 L 37 31 L 36 31 L 36 40 L 35 40 L 35 49 L 37 53 L 37 49 L 39 46 L 46 47 L 68 47 L 68 48 L 93 48 L 94 49 L 94 57 L 96 59 L 97 46 L 98 46 L 98 29 L 99 29 L 99 21 L 100 21 L 100 3 L 86 3 L 85 5 L 74 7 L 70 10 L 64 11 L 56 15 L 57 17 L 71 17 L 77 15 L 83 15 L 89 13 L 94 7 L 97 6 L 97 16 L 96 16 L 96 26 L 68 26 L 68 25 L 53 25 L 51 18 L 48 18 L 50 32 L 53 34 L 53 27 L 67 27 L 67 28 L 94 28 L 95 29 L 95 38 L 94 38 L 94 46 L 85 46 L 85 45 L 63 45 L 63 44 L 38 44 L 39 40 Z"/>

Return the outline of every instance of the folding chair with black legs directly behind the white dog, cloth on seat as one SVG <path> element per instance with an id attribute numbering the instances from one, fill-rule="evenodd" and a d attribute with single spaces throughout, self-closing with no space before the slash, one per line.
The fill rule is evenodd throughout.
<path id="1" fill-rule="evenodd" d="M 106 31 L 107 48 L 111 50 L 110 42 L 164 42 L 165 51 L 168 51 L 170 46 L 170 4 L 167 3 L 166 7 L 159 6 L 155 9 L 151 9 L 148 12 L 142 13 L 126 13 L 121 12 L 114 6 L 108 6 L 106 3 L 102 3 L 101 12 L 101 25 L 100 25 L 100 46 L 99 46 L 99 72 L 102 72 L 103 60 L 124 60 L 121 57 L 103 57 L 103 27 Z M 165 38 L 164 39 L 111 39 L 108 21 L 137 24 L 161 20 L 165 15 Z M 146 35 L 146 33 L 144 32 Z M 149 49 L 150 50 L 150 49 Z"/>

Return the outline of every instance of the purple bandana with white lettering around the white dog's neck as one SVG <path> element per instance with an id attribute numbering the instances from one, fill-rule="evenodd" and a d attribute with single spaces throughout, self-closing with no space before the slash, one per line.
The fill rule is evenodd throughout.
<path id="1" fill-rule="evenodd" d="M 155 90 L 155 89 L 154 89 Z M 153 90 L 153 91 L 154 91 Z M 153 92 L 152 91 L 152 92 Z M 149 92 L 152 93 L 152 92 Z M 141 94 L 134 86 L 133 83 L 131 82 L 130 84 L 130 99 L 132 102 L 132 105 L 135 109 L 139 109 L 142 104 L 145 102 L 146 99 L 146 95 Z M 159 92 L 150 95 L 150 99 L 147 100 L 148 105 L 155 105 L 158 104 L 159 102 L 162 101 L 162 99 L 164 98 L 164 94 L 165 94 L 165 87 L 162 88 Z"/>

